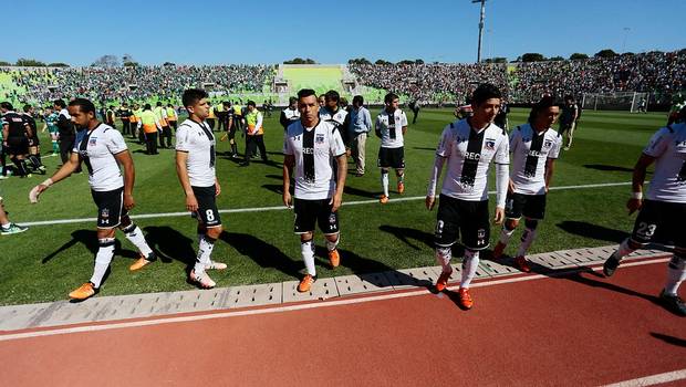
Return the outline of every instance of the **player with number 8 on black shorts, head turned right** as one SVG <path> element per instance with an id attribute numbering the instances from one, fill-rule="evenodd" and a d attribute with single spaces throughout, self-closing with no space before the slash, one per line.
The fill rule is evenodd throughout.
<path id="1" fill-rule="evenodd" d="M 184 92 L 181 102 L 188 111 L 188 118 L 176 132 L 176 174 L 186 195 L 186 209 L 198 219 L 198 254 L 189 279 L 202 289 L 216 285 L 206 270 L 227 268 L 226 263 L 211 260 L 215 242 L 224 228 L 216 200 L 221 186 L 215 172 L 215 135 L 205 122 L 210 109 L 207 98 L 204 90 Z"/>

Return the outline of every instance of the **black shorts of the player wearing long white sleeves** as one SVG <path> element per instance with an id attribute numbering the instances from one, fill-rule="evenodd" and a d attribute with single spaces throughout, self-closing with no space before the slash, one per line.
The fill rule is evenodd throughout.
<path id="1" fill-rule="evenodd" d="M 434 242 L 448 248 L 462 236 L 465 248 L 474 251 L 487 249 L 490 243 L 488 200 L 467 201 L 440 195 Z"/>

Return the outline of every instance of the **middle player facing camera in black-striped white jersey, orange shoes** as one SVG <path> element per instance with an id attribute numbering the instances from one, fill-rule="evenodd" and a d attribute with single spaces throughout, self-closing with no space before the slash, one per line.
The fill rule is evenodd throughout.
<path id="1" fill-rule="evenodd" d="M 320 116 L 313 90 L 298 92 L 300 121 L 291 124 L 283 139 L 283 203 L 291 208 L 291 171 L 295 174 L 294 231 L 300 234 L 300 249 L 306 274 L 298 285 L 308 292 L 316 280 L 314 269 L 314 224 L 326 238 L 329 262 L 337 268 L 341 257 L 339 208 L 347 172 L 345 145 L 336 125 Z M 333 169 L 335 159 L 336 170 Z"/>

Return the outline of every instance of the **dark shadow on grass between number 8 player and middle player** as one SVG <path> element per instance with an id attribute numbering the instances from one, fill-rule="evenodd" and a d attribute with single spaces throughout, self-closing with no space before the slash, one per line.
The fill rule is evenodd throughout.
<path id="1" fill-rule="evenodd" d="M 219 239 L 230 244 L 240 254 L 247 255 L 262 268 L 273 268 L 294 278 L 300 276 L 302 265 L 285 255 L 277 247 L 248 233 L 221 232 Z"/>

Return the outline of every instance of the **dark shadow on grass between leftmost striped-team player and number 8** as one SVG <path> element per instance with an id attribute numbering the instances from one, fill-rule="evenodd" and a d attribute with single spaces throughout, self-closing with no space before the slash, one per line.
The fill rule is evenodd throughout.
<path id="1" fill-rule="evenodd" d="M 145 239 L 164 263 L 179 261 L 190 268 L 195 263 L 194 241 L 167 226 L 144 228 Z"/>

